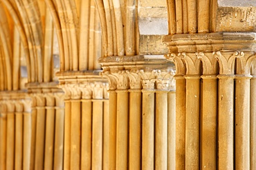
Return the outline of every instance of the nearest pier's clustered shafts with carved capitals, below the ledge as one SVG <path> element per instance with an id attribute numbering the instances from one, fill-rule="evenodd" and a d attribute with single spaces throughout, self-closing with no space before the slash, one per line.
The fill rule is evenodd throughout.
<path id="1" fill-rule="evenodd" d="M 178 68 L 176 169 L 252 169 L 254 107 L 250 95 L 254 89 L 250 72 L 255 54 L 195 52 L 171 54 L 167 59 Z M 185 105 L 181 105 L 184 98 Z M 185 118 L 179 117 L 183 109 Z M 184 131 L 185 151 L 179 140 Z"/>

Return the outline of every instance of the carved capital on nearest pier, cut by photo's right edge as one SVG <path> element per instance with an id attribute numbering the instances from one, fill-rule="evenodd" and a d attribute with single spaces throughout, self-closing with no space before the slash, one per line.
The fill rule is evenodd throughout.
<path id="1" fill-rule="evenodd" d="M 250 74 L 250 67 L 255 59 L 255 52 L 239 52 L 237 55 L 236 74 Z M 255 68 L 253 68 L 255 70 Z"/>

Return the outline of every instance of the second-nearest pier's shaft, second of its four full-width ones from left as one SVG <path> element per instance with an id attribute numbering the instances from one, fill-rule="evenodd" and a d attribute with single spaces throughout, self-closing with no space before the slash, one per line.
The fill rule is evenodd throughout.
<path id="1" fill-rule="evenodd" d="M 130 89 L 129 92 L 129 169 L 140 169 L 141 90 Z"/>

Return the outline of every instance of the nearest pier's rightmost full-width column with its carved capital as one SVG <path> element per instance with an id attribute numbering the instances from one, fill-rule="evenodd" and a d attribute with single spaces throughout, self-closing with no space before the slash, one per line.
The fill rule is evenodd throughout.
<path id="1" fill-rule="evenodd" d="M 254 52 L 237 54 L 235 75 L 235 169 L 250 169 L 250 67 Z M 254 160 L 253 160 L 254 161 Z"/>

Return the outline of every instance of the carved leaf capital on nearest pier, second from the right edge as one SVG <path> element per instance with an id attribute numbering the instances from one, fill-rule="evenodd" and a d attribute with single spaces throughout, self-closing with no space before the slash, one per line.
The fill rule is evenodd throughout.
<path id="1" fill-rule="evenodd" d="M 235 59 L 239 52 L 213 52 L 219 62 L 219 74 L 234 74 Z"/>

